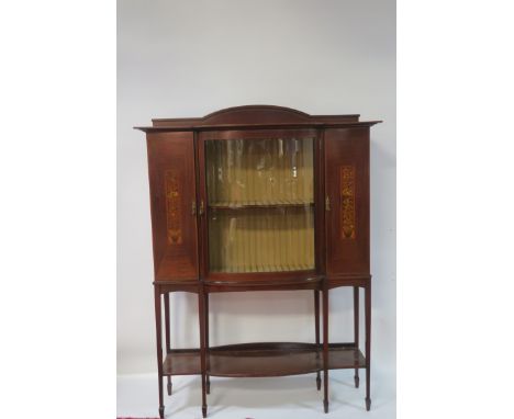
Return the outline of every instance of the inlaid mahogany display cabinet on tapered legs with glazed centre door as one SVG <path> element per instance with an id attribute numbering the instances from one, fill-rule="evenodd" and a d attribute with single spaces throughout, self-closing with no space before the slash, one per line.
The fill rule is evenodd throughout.
<path id="1" fill-rule="evenodd" d="M 190 374 L 201 375 L 203 417 L 210 376 L 315 373 L 327 412 L 328 371 L 336 369 L 355 370 L 356 387 L 366 370 L 370 409 L 369 135 L 378 122 L 250 105 L 136 127 L 148 152 L 160 418 L 164 377 L 171 395 L 171 376 Z M 354 292 L 351 342 L 328 338 L 328 293 L 339 286 Z M 312 291 L 314 343 L 211 347 L 209 295 L 264 290 Z M 174 292 L 198 294 L 200 348 L 170 347 Z"/>

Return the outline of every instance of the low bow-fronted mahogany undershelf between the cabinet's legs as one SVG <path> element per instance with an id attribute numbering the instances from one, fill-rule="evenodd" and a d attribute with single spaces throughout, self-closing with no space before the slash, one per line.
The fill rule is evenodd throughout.
<path id="1" fill-rule="evenodd" d="M 323 347 L 315 343 L 242 343 L 209 349 L 208 374 L 267 377 L 323 370 Z M 354 343 L 328 346 L 328 370 L 362 369 L 366 360 Z M 166 355 L 164 375 L 201 374 L 200 350 L 179 349 Z"/>

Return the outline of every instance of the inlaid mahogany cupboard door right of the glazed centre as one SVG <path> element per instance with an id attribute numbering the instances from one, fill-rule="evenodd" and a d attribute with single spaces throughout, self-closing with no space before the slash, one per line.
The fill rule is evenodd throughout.
<path id="1" fill-rule="evenodd" d="M 369 127 L 326 129 L 328 276 L 369 274 Z"/>

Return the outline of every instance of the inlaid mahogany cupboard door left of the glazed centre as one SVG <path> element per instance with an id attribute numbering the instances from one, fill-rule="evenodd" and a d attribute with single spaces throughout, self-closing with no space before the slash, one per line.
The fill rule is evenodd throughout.
<path id="1" fill-rule="evenodd" d="M 156 281 L 198 279 L 197 186 L 192 133 L 148 133 Z"/>

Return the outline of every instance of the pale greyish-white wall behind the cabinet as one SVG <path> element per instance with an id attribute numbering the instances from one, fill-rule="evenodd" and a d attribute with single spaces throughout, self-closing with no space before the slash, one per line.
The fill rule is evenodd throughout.
<path id="1" fill-rule="evenodd" d="M 118 3 L 119 374 L 157 367 L 146 143 L 132 127 L 246 104 L 384 121 L 371 129 L 372 372 L 394 389 L 394 1 Z M 198 346 L 197 297 L 170 302 L 172 347 Z M 331 293 L 331 341 L 353 340 L 351 302 Z M 213 346 L 313 341 L 312 293 L 212 295 L 210 327 Z"/>

